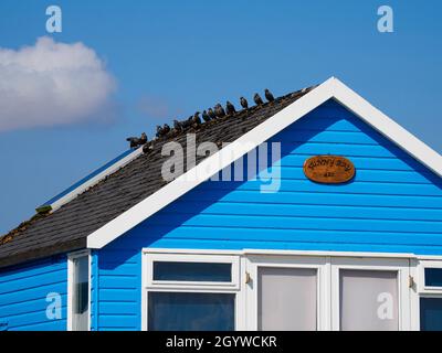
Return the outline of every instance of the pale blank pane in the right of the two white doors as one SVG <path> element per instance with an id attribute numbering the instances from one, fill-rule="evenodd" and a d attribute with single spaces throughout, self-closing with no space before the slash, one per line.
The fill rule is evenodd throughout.
<path id="1" fill-rule="evenodd" d="M 340 329 L 394 331 L 398 320 L 398 272 L 340 270 Z"/>

